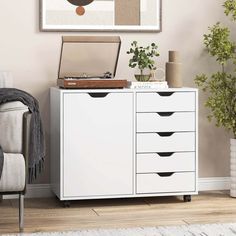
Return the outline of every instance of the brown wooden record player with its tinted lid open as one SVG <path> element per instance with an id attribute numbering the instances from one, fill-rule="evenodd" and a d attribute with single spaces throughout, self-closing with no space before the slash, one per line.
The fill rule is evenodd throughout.
<path id="1" fill-rule="evenodd" d="M 62 37 L 57 85 L 70 89 L 127 87 L 127 80 L 115 79 L 120 46 L 120 37 Z"/>

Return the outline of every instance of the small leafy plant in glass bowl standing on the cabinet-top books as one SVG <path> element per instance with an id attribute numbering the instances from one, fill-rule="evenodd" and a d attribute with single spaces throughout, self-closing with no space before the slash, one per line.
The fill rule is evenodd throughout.
<path id="1" fill-rule="evenodd" d="M 140 74 L 135 74 L 137 81 L 148 81 L 151 77 L 151 71 L 156 70 L 154 58 L 160 56 L 157 52 L 158 46 L 155 43 L 147 47 L 141 47 L 137 41 L 131 43 L 131 48 L 127 51 L 127 54 L 133 55 L 129 60 L 129 67 L 138 67 Z M 149 73 L 145 73 L 144 70 L 148 69 Z"/>

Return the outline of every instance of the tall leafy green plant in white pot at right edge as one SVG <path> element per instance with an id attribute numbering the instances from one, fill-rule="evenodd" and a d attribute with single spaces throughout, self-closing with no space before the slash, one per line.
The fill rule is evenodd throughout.
<path id="1" fill-rule="evenodd" d="M 227 0 L 223 6 L 225 14 L 236 20 L 236 0 Z M 205 103 L 210 110 L 208 119 L 214 118 L 217 127 L 233 133 L 230 195 L 236 197 L 236 44 L 230 40 L 230 30 L 217 23 L 204 35 L 204 45 L 210 56 L 216 58 L 219 70 L 209 76 L 197 75 L 195 83 L 208 94 Z"/>

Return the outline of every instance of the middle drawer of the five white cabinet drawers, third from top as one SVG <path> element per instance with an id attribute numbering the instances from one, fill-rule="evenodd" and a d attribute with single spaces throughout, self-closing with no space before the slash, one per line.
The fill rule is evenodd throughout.
<path id="1" fill-rule="evenodd" d="M 195 133 L 138 133 L 137 152 L 194 152 Z"/>

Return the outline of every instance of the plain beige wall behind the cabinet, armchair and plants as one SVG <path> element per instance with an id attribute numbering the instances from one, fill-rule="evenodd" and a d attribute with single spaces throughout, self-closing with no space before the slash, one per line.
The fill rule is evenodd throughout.
<path id="1" fill-rule="evenodd" d="M 39 32 L 39 0 L 0 1 L 0 70 L 14 74 L 17 88 L 32 93 L 39 101 L 48 144 L 49 87 L 57 78 L 61 35 L 68 33 Z M 160 67 L 167 61 L 169 49 L 179 50 L 184 63 L 184 84 L 194 86 L 199 72 L 214 69 L 214 60 L 202 52 L 202 35 L 216 21 L 227 21 L 216 0 L 163 0 L 162 33 L 121 33 L 122 51 L 118 76 L 130 79 L 126 50 L 131 41 L 142 44 L 156 42 L 160 46 Z M 117 33 L 118 34 L 118 33 Z M 76 35 L 80 35 L 79 33 Z M 229 135 L 209 124 L 200 93 L 200 153 L 201 177 L 229 176 Z M 49 156 L 40 183 L 49 182 Z"/>

